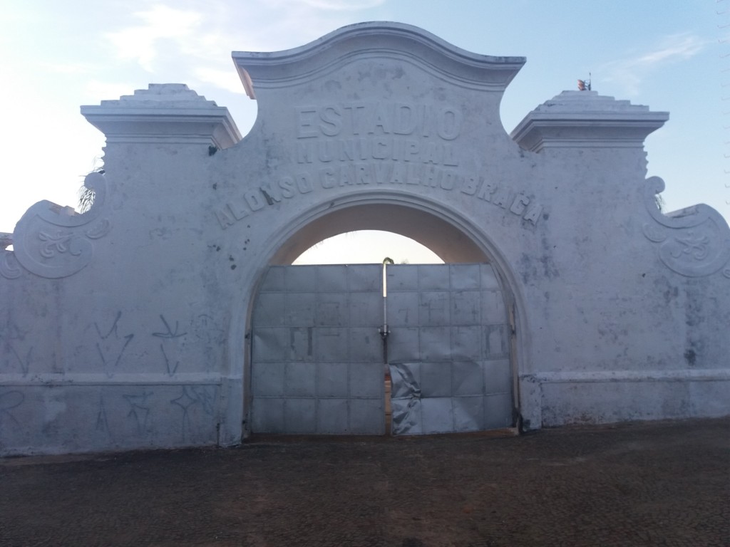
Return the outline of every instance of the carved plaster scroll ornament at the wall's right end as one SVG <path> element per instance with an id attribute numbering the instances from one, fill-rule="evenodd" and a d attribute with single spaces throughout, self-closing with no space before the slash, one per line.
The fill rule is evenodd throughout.
<path id="1" fill-rule="evenodd" d="M 700 203 L 670 214 L 656 206 L 664 181 L 646 181 L 644 203 L 654 222 L 644 225 L 644 235 L 659 244 L 659 258 L 672 271 L 688 277 L 710 276 L 722 270 L 730 278 L 730 228 L 723 216 Z"/>

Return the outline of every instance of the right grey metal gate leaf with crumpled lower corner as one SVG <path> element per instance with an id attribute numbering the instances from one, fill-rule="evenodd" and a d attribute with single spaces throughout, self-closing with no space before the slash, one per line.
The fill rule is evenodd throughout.
<path id="1" fill-rule="evenodd" d="M 393 435 L 512 425 L 510 329 L 488 264 L 388 266 Z"/>

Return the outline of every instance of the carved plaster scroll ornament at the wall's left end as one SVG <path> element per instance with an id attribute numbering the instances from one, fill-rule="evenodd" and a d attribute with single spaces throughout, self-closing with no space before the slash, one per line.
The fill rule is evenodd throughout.
<path id="1" fill-rule="evenodd" d="M 94 192 L 94 203 L 84 214 L 71 207 L 50 201 L 39 201 L 23 215 L 15 226 L 13 251 L 0 257 L 0 275 L 14 279 L 25 268 L 47 279 L 76 274 L 91 262 L 93 241 L 105 236 L 110 222 L 101 219 L 107 198 L 104 175 L 91 173 L 84 185 Z"/>

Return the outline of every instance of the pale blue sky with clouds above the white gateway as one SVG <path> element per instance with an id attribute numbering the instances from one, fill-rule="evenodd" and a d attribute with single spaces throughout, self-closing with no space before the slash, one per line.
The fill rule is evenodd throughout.
<path id="1" fill-rule="evenodd" d="M 366 20 L 525 56 L 502 103 L 507 131 L 589 72 L 602 95 L 669 111 L 646 141 L 666 209 L 708 203 L 730 219 L 730 0 L 0 0 L 0 13 L 0 232 L 41 199 L 75 205 L 101 164 L 104 136 L 80 105 L 183 82 L 246 133 L 256 106 L 231 51 L 283 50 Z"/>

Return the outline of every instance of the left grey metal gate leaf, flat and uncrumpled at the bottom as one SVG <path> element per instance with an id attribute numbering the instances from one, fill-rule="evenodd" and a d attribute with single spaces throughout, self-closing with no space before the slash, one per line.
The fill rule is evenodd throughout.
<path id="1" fill-rule="evenodd" d="M 379 265 L 272 266 L 253 310 L 253 432 L 385 432 Z"/>

